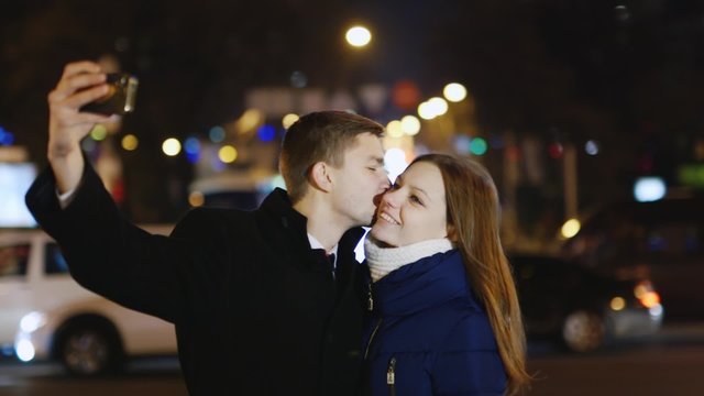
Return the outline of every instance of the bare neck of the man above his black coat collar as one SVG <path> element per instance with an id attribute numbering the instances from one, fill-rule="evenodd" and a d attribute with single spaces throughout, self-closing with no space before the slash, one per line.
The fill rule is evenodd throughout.
<path id="1" fill-rule="evenodd" d="M 294 209 L 308 219 L 308 233 L 320 241 L 326 251 L 334 248 L 349 229 L 345 221 L 340 219 L 322 198 L 308 195 L 296 202 Z"/>

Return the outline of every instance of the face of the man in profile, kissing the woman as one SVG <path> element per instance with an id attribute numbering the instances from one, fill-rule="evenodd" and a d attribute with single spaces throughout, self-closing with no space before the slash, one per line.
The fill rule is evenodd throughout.
<path id="1" fill-rule="evenodd" d="M 384 169 L 382 140 L 372 133 L 362 133 L 344 152 L 341 167 L 331 170 L 336 187 L 333 207 L 349 227 L 369 226 L 376 211 L 376 197 L 389 186 Z"/>

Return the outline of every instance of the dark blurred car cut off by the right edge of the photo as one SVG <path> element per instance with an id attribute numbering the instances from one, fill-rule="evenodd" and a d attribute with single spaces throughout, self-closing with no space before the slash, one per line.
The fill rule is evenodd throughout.
<path id="1" fill-rule="evenodd" d="M 580 219 L 560 255 L 602 274 L 650 279 L 666 321 L 704 320 L 704 199 L 615 202 Z"/>

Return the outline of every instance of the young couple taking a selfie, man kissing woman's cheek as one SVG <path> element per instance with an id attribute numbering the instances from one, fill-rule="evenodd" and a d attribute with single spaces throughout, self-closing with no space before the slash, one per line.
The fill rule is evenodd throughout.
<path id="1" fill-rule="evenodd" d="M 106 95 L 105 80 L 95 63 L 66 66 L 48 96 L 51 167 L 28 206 L 77 282 L 175 324 L 191 395 L 525 388 L 521 317 L 482 166 L 425 155 L 389 187 L 380 124 L 310 113 L 284 139 L 286 191 L 254 211 L 194 209 L 170 237 L 152 235 L 120 213 L 80 151 L 109 121 L 78 111 Z"/>

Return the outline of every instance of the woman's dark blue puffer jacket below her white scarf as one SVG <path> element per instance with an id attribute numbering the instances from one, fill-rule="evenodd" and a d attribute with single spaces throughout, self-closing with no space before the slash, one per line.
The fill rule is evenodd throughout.
<path id="1" fill-rule="evenodd" d="M 366 394 L 503 395 L 506 373 L 458 250 L 371 284 L 364 337 Z"/>

